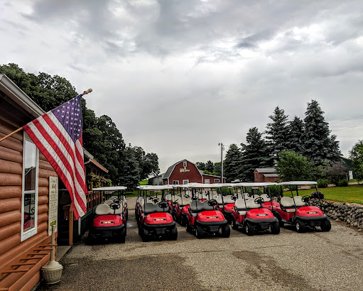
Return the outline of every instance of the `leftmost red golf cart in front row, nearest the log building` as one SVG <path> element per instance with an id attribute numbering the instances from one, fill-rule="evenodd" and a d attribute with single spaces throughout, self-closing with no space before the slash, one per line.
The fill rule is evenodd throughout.
<path id="1" fill-rule="evenodd" d="M 127 204 L 124 199 L 124 186 L 99 187 L 93 191 L 117 191 L 117 196 L 109 197 L 94 209 L 92 225 L 88 231 L 89 243 L 99 238 L 115 238 L 119 243 L 125 242 Z"/>

